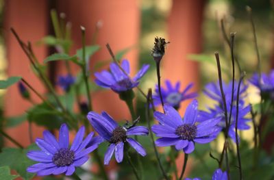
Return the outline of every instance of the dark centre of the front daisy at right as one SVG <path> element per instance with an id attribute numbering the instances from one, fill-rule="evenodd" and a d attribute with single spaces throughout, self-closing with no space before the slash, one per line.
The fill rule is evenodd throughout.
<path id="1" fill-rule="evenodd" d="M 195 125 L 181 125 L 177 127 L 175 134 L 180 136 L 182 140 L 193 140 L 197 135 L 197 127 Z"/>

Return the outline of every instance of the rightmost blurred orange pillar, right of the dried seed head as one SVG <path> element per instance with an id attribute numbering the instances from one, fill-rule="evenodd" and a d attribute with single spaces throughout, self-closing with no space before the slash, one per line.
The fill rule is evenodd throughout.
<path id="1" fill-rule="evenodd" d="M 181 81 L 182 88 L 188 83 L 195 83 L 195 90 L 199 86 L 199 66 L 197 62 L 188 60 L 190 53 L 201 52 L 201 25 L 203 22 L 204 1 L 180 1 L 174 0 L 171 14 L 168 20 L 167 40 L 171 44 L 167 45 L 166 55 L 162 60 L 162 79 L 170 79 L 173 83 Z M 182 103 L 179 110 L 183 116 L 186 106 L 190 101 Z M 183 153 L 177 159 L 177 168 L 180 173 L 184 159 Z M 190 166 L 188 162 L 188 167 Z M 187 169 L 188 170 L 188 169 Z M 186 172 L 187 174 L 187 172 Z M 186 175 L 185 174 L 185 175 Z"/>

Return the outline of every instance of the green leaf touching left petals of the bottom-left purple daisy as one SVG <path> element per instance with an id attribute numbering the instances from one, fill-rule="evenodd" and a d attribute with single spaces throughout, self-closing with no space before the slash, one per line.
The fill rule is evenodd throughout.
<path id="1" fill-rule="evenodd" d="M 28 166 L 34 164 L 34 161 L 27 158 L 27 151 L 34 149 L 38 149 L 35 144 L 28 146 L 27 149 L 4 148 L 2 153 L 0 153 L 0 166 L 10 166 L 23 179 L 32 179 L 34 174 L 27 172 L 26 169 Z"/>

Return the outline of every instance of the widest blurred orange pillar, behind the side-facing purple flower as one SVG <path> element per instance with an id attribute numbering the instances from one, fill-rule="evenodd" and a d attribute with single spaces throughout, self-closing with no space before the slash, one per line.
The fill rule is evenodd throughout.
<path id="1" fill-rule="evenodd" d="M 101 60 L 110 60 L 105 44 L 109 43 L 114 53 L 138 44 L 140 10 L 137 0 L 62 0 L 58 1 L 58 12 L 65 12 L 67 20 L 73 25 L 72 38 L 75 44 L 72 53 L 82 47 L 80 25 L 86 27 L 86 43 L 90 44 L 95 25 L 98 21 L 103 23 L 97 36 L 97 44 L 101 46 L 101 50 L 92 57 L 90 69 L 93 69 L 95 64 Z M 135 73 L 138 66 L 138 50 L 132 49 L 125 55 L 125 58 L 130 62 L 132 74 Z M 130 118 L 125 103 L 119 99 L 118 94 L 111 90 L 92 94 L 92 105 L 96 112 L 104 110 L 114 118 Z"/>

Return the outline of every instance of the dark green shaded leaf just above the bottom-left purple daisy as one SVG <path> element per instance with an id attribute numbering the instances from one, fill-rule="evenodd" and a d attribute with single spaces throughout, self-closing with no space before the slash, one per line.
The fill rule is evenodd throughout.
<path id="1" fill-rule="evenodd" d="M 47 104 L 36 105 L 27 112 L 27 119 L 36 125 L 45 126 L 47 129 L 59 129 L 64 123 L 64 117 L 61 112 L 52 110 Z"/>

